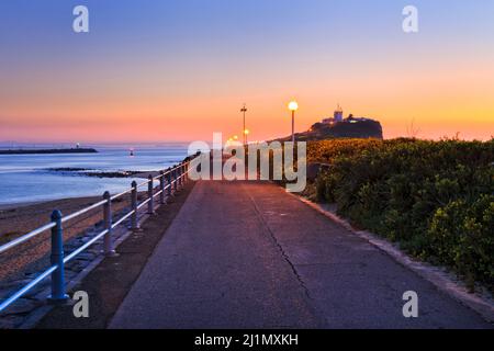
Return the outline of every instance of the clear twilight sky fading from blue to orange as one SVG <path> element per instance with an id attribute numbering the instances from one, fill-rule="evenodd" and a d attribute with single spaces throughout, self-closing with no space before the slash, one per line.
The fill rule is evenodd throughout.
<path id="1" fill-rule="evenodd" d="M 494 0 L 0 1 L 0 141 L 227 138 L 244 103 L 262 140 L 291 133 L 292 99 L 299 132 L 339 103 L 386 138 L 490 139 Z"/>

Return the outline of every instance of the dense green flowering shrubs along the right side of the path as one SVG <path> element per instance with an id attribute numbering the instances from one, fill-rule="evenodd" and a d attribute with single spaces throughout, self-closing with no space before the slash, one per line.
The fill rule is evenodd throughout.
<path id="1" fill-rule="evenodd" d="M 494 139 L 339 139 L 307 145 L 329 163 L 318 201 L 413 256 L 494 291 Z"/>

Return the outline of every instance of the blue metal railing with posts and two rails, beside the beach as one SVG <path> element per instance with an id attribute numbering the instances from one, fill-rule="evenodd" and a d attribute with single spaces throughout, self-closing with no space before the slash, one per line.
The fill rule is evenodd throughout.
<path id="1" fill-rule="evenodd" d="M 116 195 L 110 195 L 109 192 L 103 194 L 103 200 L 82 208 L 76 213 L 72 213 L 68 216 L 63 216 L 61 212 L 55 210 L 52 214 L 52 222 L 27 233 L 12 241 L 9 241 L 5 245 L 0 246 L 0 254 L 23 244 L 29 241 L 30 239 L 47 231 L 52 230 L 52 252 L 50 252 L 50 267 L 45 271 L 37 274 L 37 276 L 31 281 L 29 284 L 23 286 L 21 290 L 16 291 L 13 295 L 1 302 L 0 304 L 0 313 L 12 305 L 15 301 L 25 295 L 29 291 L 31 291 L 34 286 L 40 284 L 47 276 L 52 276 L 52 294 L 48 296 L 48 301 L 50 303 L 65 303 L 68 299 L 68 295 L 66 294 L 66 284 L 65 284 L 65 263 L 71 261 L 78 254 L 87 250 L 98 240 L 103 238 L 103 251 L 108 257 L 115 256 L 115 250 L 113 248 L 113 238 L 112 231 L 115 227 L 122 225 L 128 218 L 131 219 L 131 230 L 139 230 L 138 224 L 138 211 L 147 205 L 147 213 L 154 214 L 155 210 L 155 199 L 159 196 L 160 204 L 166 204 L 167 196 L 171 196 L 173 193 L 179 191 L 186 182 L 189 180 L 190 172 L 190 163 L 191 160 L 188 159 L 180 165 L 168 169 L 166 171 L 160 171 L 159 176 L 153 177 L 149 174 L 148 180 L 142 183 L 137 183 L 135 181 L 132 182 L 132 186 L 130 190 L 126 190 Z M 155 186 L 155 181 L 159 181 L 159 185 Z M 138 190 L 147 185 L 147 199 L 142 203 L 138 202 Z M 156 191 L 156 188 L 159 188 L 159 191 Z M 113 223 L 112 216 L 112 201 L 122 199 L 123 196 L 131 194 L 131 211 L 123 215 L 122 218 Z M 103 208 L 103 224 L 104 230 L 98 233 L 88 240 L 86 244 L 77 248 L 75 251 L 70 252 L 68 256 L 64 253 L 64 228 L 63 224 L 67 223 L 71 219 L 78 218 L 83 214 L 89 213 L 96 208 Z"/>

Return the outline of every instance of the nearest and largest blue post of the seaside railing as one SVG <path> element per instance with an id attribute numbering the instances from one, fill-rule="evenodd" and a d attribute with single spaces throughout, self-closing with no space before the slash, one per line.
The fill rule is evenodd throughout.
<path id="1" fill-rule="evenodd" d="M 64 229 L 61 227 L 61 212 L 54 211 L 52 222 L 52 254 L 50 262 L 57 265 L 57 270 L 52 273 L 52 295 L 48 301 L 52 304 L 64 304 L 68 299 L 65 293 L 65 264 L 64 264 Z"/>

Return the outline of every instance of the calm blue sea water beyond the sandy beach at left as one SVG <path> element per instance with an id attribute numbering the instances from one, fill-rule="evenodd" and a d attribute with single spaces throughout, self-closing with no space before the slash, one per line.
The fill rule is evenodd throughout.
<path id="1" fill-rule="evenodd" d="M 0 205 L 66 197 L 112 194 L 130 188 L 133 179 L 92 178 L 55 172 L 53 168 L 94 171 L 156 171 L 187 157 L 187 145 L 160 147 L 96 147 L 99 154 L 0 155 Z"/>

